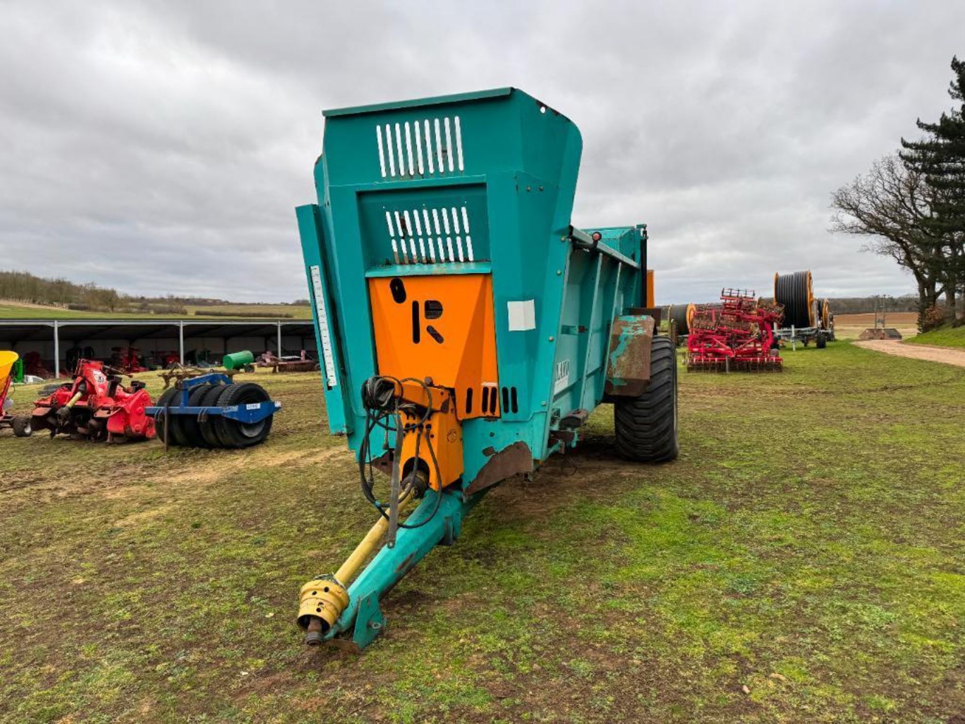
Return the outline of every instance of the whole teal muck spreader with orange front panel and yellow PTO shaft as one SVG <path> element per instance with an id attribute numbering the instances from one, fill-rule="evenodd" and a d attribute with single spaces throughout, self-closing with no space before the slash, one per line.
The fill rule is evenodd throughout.
<path id="1" fill-rule="evenodd" d="M 564 115 L 501 88 L 325 117 L 298 227 L 329 428 L 377 520 L 305 584 L 298 624 L 364 647 L 379 599 L 598 404 L 622 457 L 675 459 L 676 357 L 643 309 L 646 225 L 570 224 L 582 142 Z"/>

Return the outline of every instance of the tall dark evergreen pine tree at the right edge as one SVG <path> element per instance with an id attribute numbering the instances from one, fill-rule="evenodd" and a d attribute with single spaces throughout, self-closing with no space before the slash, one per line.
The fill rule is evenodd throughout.
<path id="1" fill-rule="evenodd" d="M 918 120 L 925 137 L 919 141 L 901 139 L 902 161 L 924 176 L 931 189 L 932 216 L 927 220 L 929 236 L 936 239 L 936 259 L 948 300 L 948 315 L 955 318 L 955 305 L 965 285 L 965 62 L 951 59 L 952 100 L 959 101 L 951 112 L 942 113 L 936 123 Z"/>

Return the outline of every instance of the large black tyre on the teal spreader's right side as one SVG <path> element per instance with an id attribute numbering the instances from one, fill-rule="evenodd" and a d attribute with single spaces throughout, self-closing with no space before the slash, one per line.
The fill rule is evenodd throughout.
<path id="1" fill-rule="evenodd" d="M 653 338 L 647 390 L 615 404 L 614 423 L 621 457 L 640 462 L 676 459 L 676 352 L 669 337 Z"/>

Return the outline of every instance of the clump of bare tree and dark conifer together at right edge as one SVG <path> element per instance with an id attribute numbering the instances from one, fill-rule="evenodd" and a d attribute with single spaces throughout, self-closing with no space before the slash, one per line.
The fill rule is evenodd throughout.
<path id="1" fill-rule="evenodd" d="M 949 96 L 958 104 L 923 136 L 832 194 L 832 230 L 868 237 L 918 287 L 919 326 L 961 324 L 965 301 L 965 61 L 951 59 Z"/>

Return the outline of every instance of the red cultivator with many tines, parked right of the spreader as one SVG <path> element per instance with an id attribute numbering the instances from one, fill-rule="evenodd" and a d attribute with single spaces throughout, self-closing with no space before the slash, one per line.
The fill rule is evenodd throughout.
<path id="1" fill-rule="evenodd" d="M 773 330 L 783 316 L 780 304 L 758 299 L 754 292 L 723 290 L 720 304 L 703 304 L 694 312 L 687 369 L 780 371 L 784 361 Z"/>

